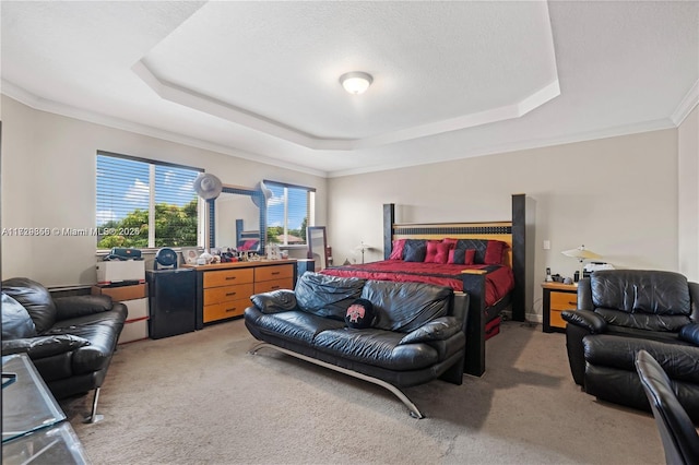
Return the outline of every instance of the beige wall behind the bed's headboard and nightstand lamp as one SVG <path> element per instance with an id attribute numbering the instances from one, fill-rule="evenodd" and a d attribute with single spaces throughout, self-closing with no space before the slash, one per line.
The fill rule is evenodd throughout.
<path id="1" fill-rule="evenodd" d="M 383 203 L 396 204 L 399 223 L 509 220 L 511 194 L 528 194 L 536 205 L 528 312 L 536 317 L 545 269 L 572 276 L 579 267 L 562 250 L 584 243 L 616 267 L 678 269 L 676 130 L 334 178 L 329 192 L 339 263 L 360 260 L 360 240 L 377 248 L 368 261 L 382 259 Z"/>

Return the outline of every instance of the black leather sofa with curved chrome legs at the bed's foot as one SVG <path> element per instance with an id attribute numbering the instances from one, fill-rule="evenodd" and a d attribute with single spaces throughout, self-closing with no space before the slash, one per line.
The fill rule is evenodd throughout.
<path id="1" fill-rule="evenodd" d="M 371 327 L 345 323 L 358 298 L 376 310 Z M 245 324 L 259 341 L 288 355 L 379 384 L 411 415 L 423 414 L 401 391 L 441 378 L 461 384 L 469 297 L 420 283 L 344 278 L 306 272 L 295 290 L 251 298 Z"/>

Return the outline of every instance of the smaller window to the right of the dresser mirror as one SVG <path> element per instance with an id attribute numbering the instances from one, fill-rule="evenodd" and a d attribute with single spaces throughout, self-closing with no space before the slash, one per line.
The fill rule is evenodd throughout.
<path id="1" fill-rule="evenodd" d="M 266 204 L 266 241 L 306 245 L 306 227 L 313 226 L 316 189 L 264 181 L 272 191 Z"/>

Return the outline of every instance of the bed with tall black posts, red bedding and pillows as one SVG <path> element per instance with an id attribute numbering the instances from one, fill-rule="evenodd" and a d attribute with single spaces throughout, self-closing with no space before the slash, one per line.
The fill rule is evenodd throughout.
<path id="1" fill-rule="evenodd" d="M 503 311 L 510 311 L 512 320 L 525 320 L 526 228 L 524 194 L 512 195 L 512 220 L 509 222 L 396 224 L 395 205 L 386 204 L 384 260 L 331 267 L 321 273 L 431 283 L 467 293 L 464 371 L 479 377 L 485 372 L 489 323 L 497 322 Z M 415 252 L 420 243 L 425 245 L 422 260 L 420 252 Z M 445 261 L 454 263 L 442 263 Z"/>

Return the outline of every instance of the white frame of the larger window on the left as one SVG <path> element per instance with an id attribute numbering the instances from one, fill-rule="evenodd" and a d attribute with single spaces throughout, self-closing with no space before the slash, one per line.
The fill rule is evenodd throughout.
<path id="1" fill-rule="evenodd" d="M 180 164 L 176 164 L 176 163 L 170 163 L 170 162 L 163 162 L 163 160 L 158 160 L 158 159 L 152 159 L 152 158 L 144 158 L 144 157 L 139 157 L 139 156 L 133 156 L 133 155 L 126 155 L 126 154 L 120 154 L 120 153 L 116 153 L 116 152 L 108 152 L 108 151 L 100 151 L 98 150 L 95 154 L 95 223 L 97 219 L 97 157 L 98 156 L 106 156 L 106 157 L 112 157 L 112 158 L 120 158 L 120 159 L 127 159 L 127 160 L 131 160 L 131 162 L 139 162 L 139 163 L 145 163 L 149 165 L 149 171 L 150 171 L 150 177 L 149 177 L 149 194 L 150 194 L 150 201 L 149 201 L 149 246 L 147 247 L 140 247 L 138 248 L 141 251 L 157 251 L 159 249 L 162 249 L 163 247 L 169 247 L 174 250 L 180 250 L 181 247 L 197 247 L 197 248 L 203 248 L 204 247 L 204 233 L 205 233 L 205 202 L 202 201 L 202 199 L 197 195 L 197 246 L 181 246 L 181 247 L 173 247 L 173 246 L 155 246 L 155 228 L 151 227 L 151 225 L 155 222 L 155 177 L 154 177 L 154 172 L 155 172 L 155 167 L 159 166 L 159 167 L 164 167 L 164 168 L 178 168 L 178 169 L 188 169 L 188 170 L 192 170 L 192 171 L 198 171 L 198 172 L 205 172 L 205 170 L 203 168 L 198 168 L 194 166 L 188 166 L 188 165 L 180 165 Z M 97 228 L 99 228 L 100 226 L 97 226 Z M 95 249 L 97 251 L 98 254 L 104 254 L 104 253 L 108 253 L 110 251 L 110 249 L 99 249 L 96 245 L 95 245 Z"/>

